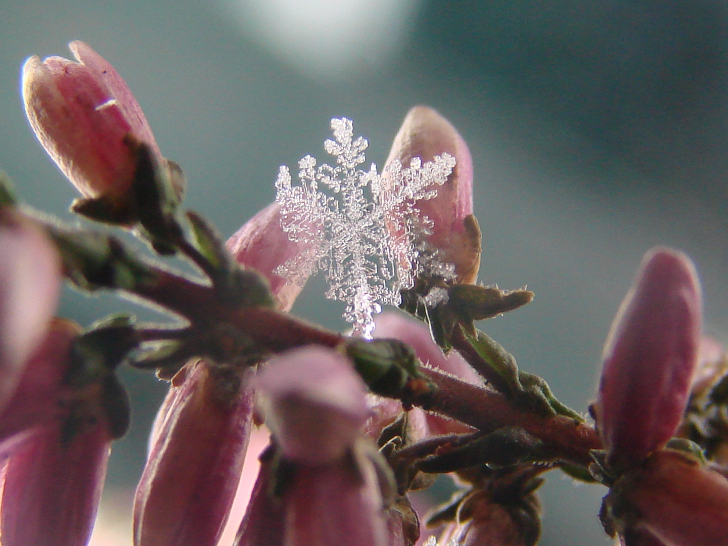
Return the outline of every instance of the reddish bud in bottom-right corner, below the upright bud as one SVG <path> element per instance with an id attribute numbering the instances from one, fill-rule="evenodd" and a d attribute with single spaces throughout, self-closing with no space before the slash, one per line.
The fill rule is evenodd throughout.
<path id="1" fill-rule="evenodd" d="M 625 517 L 621 532 L 644 531 L 665 546 L 728 545 L 728 480 L 718 472 L 662 450 L 625 480 L 619 499 L 611 499 Z"/>

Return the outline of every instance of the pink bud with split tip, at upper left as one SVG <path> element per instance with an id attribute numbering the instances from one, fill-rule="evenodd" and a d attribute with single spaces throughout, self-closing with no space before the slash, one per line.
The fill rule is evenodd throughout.
<path id="1" fill-rule="evenodd" d="M 33 56 L 23 66 L 25 114 L 38 140 L 84 197 L 127 194 L 136 157 L 131 136 L 162 159 L 129 87 L 105 59 L 69 44 L 76 61 Z"/>

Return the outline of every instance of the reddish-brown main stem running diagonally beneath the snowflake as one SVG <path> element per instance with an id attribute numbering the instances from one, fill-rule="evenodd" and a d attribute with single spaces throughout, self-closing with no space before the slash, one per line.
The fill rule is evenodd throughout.
<path id="1" fill-rule="evenodd" d="M 234 307 L 215 289 L 170 272 L 159 272 L 155 285 L 141 286 L 137 296 L 189 319 L 194 325 L 229 324 L 270 352 L 317 344 L 335 348 L 346 338 L 267 307 Z M 521 427 L 542 440 L 553 459 L 587 466 L 589 451 L 601 449 L 593 427 L 565 416 L 542 417 L 518 408 L 505 395 L 460 381 L 431 368 L 424 373 L 436 388 L 403 395 L 406 402 L 470 424 L 483 432 Z"/>

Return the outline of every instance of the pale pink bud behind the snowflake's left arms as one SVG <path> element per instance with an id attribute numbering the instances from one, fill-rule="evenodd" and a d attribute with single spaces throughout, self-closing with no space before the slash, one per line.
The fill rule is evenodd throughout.
<path id="1" fill-rule="evenodd" d="M 230 237 L 226 247 L 239 264 L 256 269 L 266 277 L 278 309 L 290 311 L 306 279 L 288 282 L 274 270 L 304 252 L 306 246 L 288 239 L 288 234 L 280 226 L 280 207 L 272 203 L 250 218 Z"/>

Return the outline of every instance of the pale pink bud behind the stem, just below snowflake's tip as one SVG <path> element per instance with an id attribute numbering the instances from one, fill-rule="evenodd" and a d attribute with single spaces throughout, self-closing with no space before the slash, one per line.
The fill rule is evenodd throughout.
<path id="1" fill-rule="evenodd" d="M 472 369 L 457 351 L 443 355 L 442 350 L 432 341 L 430 329 L 419 320 L 400 312 L 384 312 L 374 320 L 375 338 L 394 338 L 404 341 L 422 361 L 424 365 L 446 371 L 474 385 L 483 385 L 483 379 Z M 446 417 L 427 414 L 427 424 L 432 434 L 451 434 L 453 432 L 470 432 L 472 429 L 462 423 Z"/>

